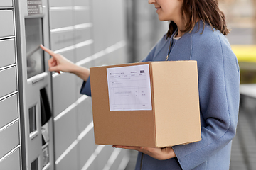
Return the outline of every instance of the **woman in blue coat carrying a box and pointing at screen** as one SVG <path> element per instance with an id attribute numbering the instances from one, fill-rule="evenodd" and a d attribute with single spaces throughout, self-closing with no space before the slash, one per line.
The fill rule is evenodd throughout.
<path id="1" fill-rule="evenodd" d="M 228 40 L 230 30 L 218 0 L 149 0 L 169 30 L 142 61 L 196 60 L 201 110 L 200 142 L 167 148 L 113 146 L 139 151 L 136 169 L 229 169 L 231 141 L 239 108 L 239 67 Z M 90 95 L 90 72 L 61 55 L 49 60 L 50 71 L 71 72 L 85 80 L 81 93 Z"/>

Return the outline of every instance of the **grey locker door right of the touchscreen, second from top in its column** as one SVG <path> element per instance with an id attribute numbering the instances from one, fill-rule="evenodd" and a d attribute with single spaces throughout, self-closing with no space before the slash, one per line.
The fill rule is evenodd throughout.
<path id="1" fill-rule="evenodd" d="M 50 29 L 73 26 L 73 11 L 50 11 Z"/>

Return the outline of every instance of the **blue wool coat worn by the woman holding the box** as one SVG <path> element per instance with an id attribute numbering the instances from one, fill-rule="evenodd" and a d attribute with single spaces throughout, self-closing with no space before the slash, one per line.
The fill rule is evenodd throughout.
<path id="1" fill-rule="evenodd" d="M 198 62 L 202 140 L 173 146 L 176 158 L 164 161 L 139 152 L 136 169 L 228 170 L 231 142 L 238 123 L 240 72 L 237 58 L 220 31 L 213 31 L 208 24 L 203 30 L 203 22 L 199 21 L 191 33 L 185 33 L 179 40 L 161 38 L 142 62 L 166 60 L 170 40 L 169 60 Z M 90 79 L 82 85 L 81 93 L 90 95 Z"/>

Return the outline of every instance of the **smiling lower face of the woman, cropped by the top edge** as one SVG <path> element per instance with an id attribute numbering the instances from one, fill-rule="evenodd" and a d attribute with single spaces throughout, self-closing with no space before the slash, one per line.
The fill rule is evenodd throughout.
<path id="1" fill-rule="evenodd" d="M 160 21 L 178 22 L 181 19 L 183 0 L 149 0 L 153 4 Z"/>

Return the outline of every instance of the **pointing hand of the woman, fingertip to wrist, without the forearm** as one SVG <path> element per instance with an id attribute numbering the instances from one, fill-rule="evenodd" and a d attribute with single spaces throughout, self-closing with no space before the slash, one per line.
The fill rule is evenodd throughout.
<path id="1" fill-rule="evenodd" d="M 73 69 L 75 69 L 76 65 L 71 62 L 70 60 L 63 57 L 63 55 L 55 54 L 52 50 L 49 50 L 46 47 L 43 47 L 43 45 L 40 45 L 40 47 L 48 52 L 49 55 L 52 57 L 48 60 L 49 65 L 49 71 L 50 72 L 73 72 Z"/>

